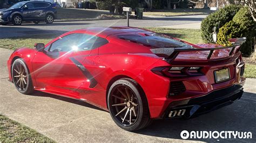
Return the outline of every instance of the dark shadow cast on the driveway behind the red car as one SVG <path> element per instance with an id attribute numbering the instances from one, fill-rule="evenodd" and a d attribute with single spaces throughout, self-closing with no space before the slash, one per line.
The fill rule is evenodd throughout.
<path id="1" fill-rule="evenodd" d="M 256 94 L 244 92 L 244 95 L 237 102 L 212 111 L 196 118 L 181 119 L 159 119 L 136 133 L 151 135 L 154 137 L 181 139 L 181 131 L 239 131 L 252 132 L 256 134 Z M 255 142 L 255 139 L 188 139 L 197 141 L 249 141 Z"/>

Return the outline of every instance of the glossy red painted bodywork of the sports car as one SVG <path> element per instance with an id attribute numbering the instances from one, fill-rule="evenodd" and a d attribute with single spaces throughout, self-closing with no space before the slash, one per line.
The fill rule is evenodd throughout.
<path id="1" fill-rule="evenodd" d="M 240 52 L 228 57 L 228 50 L 216 50 L 211 60 L 206 60 L 207 52 L 184 52 L 170 64 L 153 54 L 149 47 L 118 38 L 125 34 L 153 33 L 140 28 L 99 27 L 71 31 L 60 35 L 45 47 L 73 33 L 96 35 L 107 39 L 109 43 L 91 51 L 60 52 L 58 58 L 51 58 L 46 52 L 37 52 L 35 49 L 19 48 L 11 54 L 8 60 L 10 80 L 12 80 L 12 62 L 16 58 L 22 58 L 31 73 L 35 90 L 80 99 L 107 110 L 106 95 L 112 80 L 129 77 L 138 82 L 145 92 L 151 118 L 160 118 L 167 106 L 174 101 L 204 96 L 212 91 L 245 82 L 245 78 L 240 77 L 240 69 L 237 66 L 238 59 L 239 64 L 242 63 Z M 190 45 L 196 48 L 218 46 Z M 90 72 L 97 81 L 95 87 L 90 87 L 92 81 L 84 76 L 70 58 L 82 63 Z M 171 66 L 200 66 L 203 75 L 165 77 L 151 71 L 155 67 Z M 228 81 L 216 83 L 213 72 L 224 67 L 230 69 L 231 78 Z M 170 82 L 173 81 L 183 82 L 186 91 L 177 96 L 169 96 Z"/>

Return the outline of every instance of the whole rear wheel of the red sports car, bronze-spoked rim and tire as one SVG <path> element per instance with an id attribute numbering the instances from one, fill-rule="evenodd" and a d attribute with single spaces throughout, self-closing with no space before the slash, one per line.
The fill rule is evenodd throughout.
<path id="1" fill-rule="evenodd" d="M 107 106 L 114 123 L 126 131 L 140 130 L 151 121 L 146 96 L 130 78 L 121 78 L 111 85 Z"/>

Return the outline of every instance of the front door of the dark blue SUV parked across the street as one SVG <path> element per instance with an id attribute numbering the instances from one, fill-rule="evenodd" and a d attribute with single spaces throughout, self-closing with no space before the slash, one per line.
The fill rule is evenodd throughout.
<path id="1" fill-rule="evenodd" d="M 23 6 L 22 10 L 23 20 L 30 20 L 35 17 L 35 5 L 34 3 L 27 3 Z"/>

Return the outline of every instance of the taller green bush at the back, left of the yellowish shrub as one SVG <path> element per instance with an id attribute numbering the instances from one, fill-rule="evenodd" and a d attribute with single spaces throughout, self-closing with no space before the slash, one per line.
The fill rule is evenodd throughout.
<path id="1" fill-rule="evenodd" d="M 222 27 L 227 22 L 230 22 L 240 8 L 240 5 L 231 4 L 207 16 L 201 23 L 201 37 L 203 40 L 207 43 L 214 42 L 212 39 L 213 27 L 217 27 L 216 32 L 218 33 L 218 26 Z"/>

